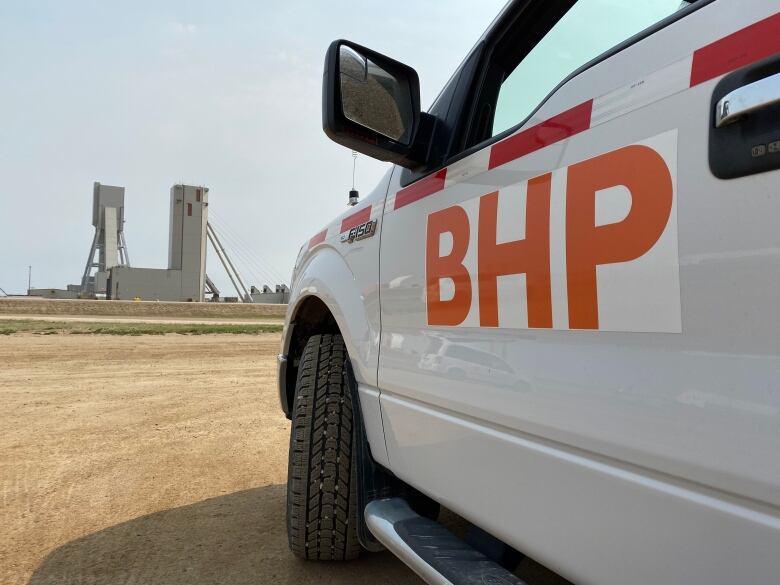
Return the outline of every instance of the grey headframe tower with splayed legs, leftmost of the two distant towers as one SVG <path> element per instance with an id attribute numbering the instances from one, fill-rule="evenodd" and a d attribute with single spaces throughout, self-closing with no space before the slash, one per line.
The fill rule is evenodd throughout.
<path id="1" fill-rule="evenodd" d="M 79 288 L 83 296 L 105 294 L 108 271 L 114 266 L 130 266 L 124 223 L 125 188 L 95 182 L 92 188 L 92 225 L 95 226 L 95 236 L 81 277 Z"/>

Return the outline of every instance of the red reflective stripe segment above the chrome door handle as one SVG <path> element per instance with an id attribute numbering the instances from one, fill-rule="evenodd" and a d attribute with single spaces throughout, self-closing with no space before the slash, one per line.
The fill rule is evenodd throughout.
<path id="1" fill-rule="evenodd" d="M 693 53 L 691 87 L 780 51 L 780 12 Z"/>

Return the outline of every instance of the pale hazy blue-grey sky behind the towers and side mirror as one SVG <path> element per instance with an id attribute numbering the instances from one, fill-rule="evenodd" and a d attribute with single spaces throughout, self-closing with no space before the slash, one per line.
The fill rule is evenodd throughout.
<path id="1" fill-rule="evenodd" d="M 345 206 L 350 152 L 322 132 L 322 62 L 348 38 L 417 69 L 427 107 L 504 0 L 0 3 L 0 287 L 80 281 L 92 183 L 126 188 L 134 266 L 167 264 L 168 197 L 209 187 L 252 284 L 289 278 Z M 386 165 L 360 156 L 368 193 Z M 241 244 L 236 246 L 235 243 Z M 232 294 L 213 253 L 209 275 Z"/>

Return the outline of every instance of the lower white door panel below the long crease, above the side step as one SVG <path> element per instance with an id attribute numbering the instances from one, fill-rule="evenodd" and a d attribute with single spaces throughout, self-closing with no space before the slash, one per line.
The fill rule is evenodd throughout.
<path id="1" fill-rule="evenodd" d="M 777 510 L 382 394 L 393 471 L 580 585 L 775 583 Z"/>

